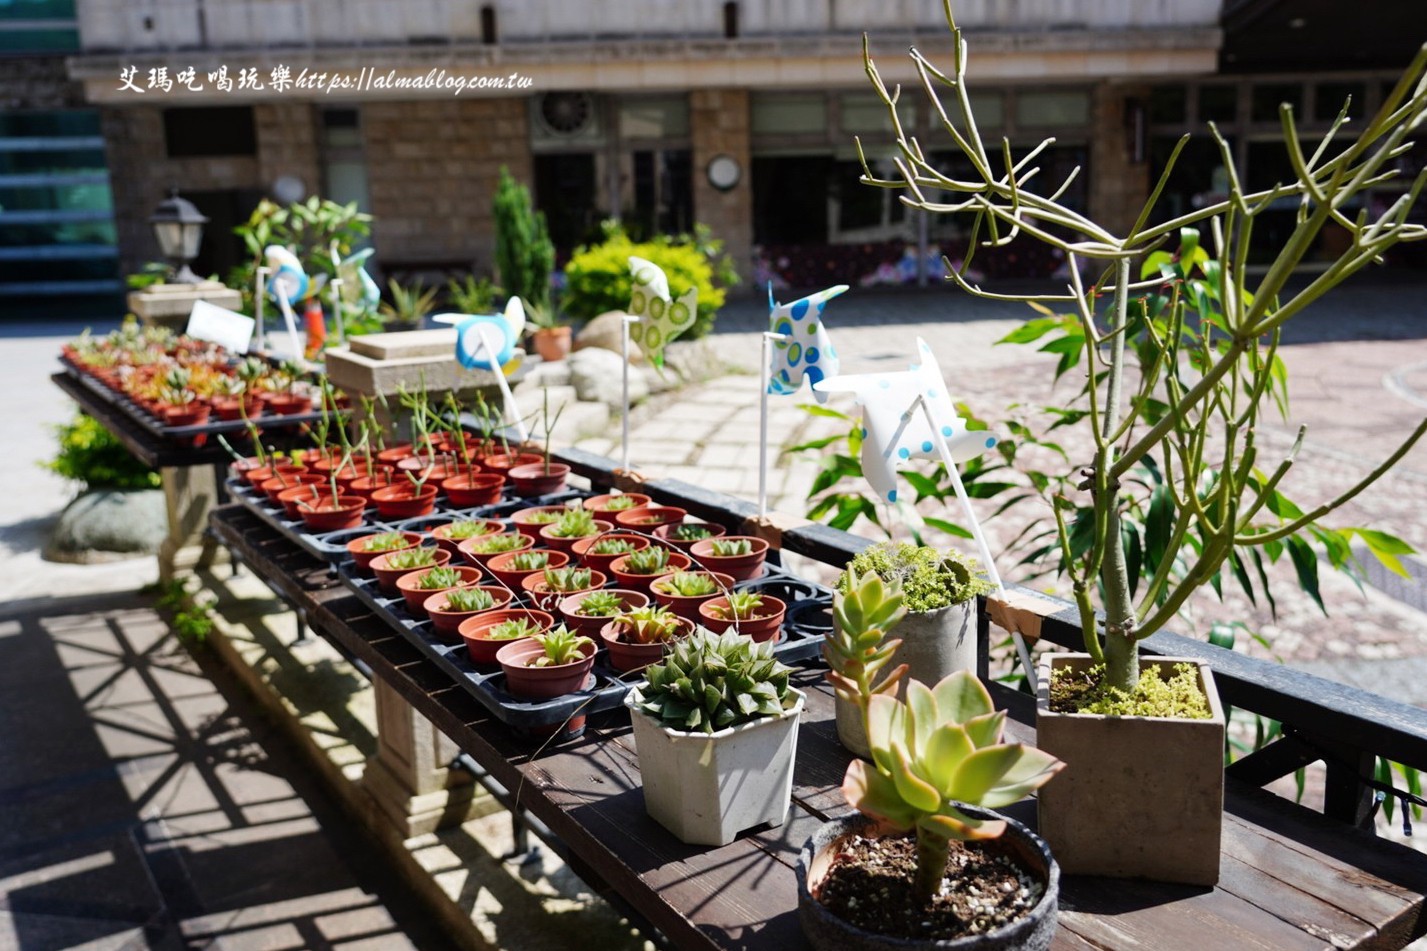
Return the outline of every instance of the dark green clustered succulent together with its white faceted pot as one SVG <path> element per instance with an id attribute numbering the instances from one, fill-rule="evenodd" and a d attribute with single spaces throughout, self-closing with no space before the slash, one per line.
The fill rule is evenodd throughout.
<path id="1" fill-rule="evenodd" d="M 649 815 L 681 841 L 725 845 L 788 818 L 803 694 L 771 644 L 699 631 L 625 698 Z"/>

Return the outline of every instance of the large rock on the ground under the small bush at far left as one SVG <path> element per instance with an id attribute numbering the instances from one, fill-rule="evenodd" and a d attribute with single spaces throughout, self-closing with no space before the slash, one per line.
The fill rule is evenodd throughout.
<path id="1" fill-rule="evenodd" d="M 158 554 L 168 533 L 164 494 L 157 488 L 94 488 L 64 507 L 46 550 L 51 561 L 96 561 L 106 555 Z"/>

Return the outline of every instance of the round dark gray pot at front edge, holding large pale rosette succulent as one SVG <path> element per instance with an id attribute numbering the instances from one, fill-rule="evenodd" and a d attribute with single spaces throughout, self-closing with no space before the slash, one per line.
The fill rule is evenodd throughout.
<path id="1" fill-rule="evenodd" d="M 812 897 L 812 890 L 828 874 L 831 857 L 836 852 L 839 841 L 853 834 L 868 835 L 875 828 L 875 822 L 865 815 L 850 815 L 823 824 L 812 834 L 798 855 L 798 920 L 802 922 L 809 944 L 818 951 L 918 951 L 920 948 L 935 951 L 999 951 L 1000 948 L 1045 951 L 1049 948 L 1056 934 L 1060 901 L 1060 868 L 1052 858 L 1050 848 L 1039 835 L 1016 820 L 990 810 L 969 805 L 960 808 L 968 815 L 1006 820 L 1006 837 L 1015 847 L 1016 857 L 1046 885 L 1040 902 L 1032 908 L 1029 915 L 986 934 L 946 941 L 890 938 L 855 928 Z"/>

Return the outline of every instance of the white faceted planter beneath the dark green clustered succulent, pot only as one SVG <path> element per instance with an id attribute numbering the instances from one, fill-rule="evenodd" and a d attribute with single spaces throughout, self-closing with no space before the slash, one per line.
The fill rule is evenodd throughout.
<path id="1" fill-rule="evenodd" d="M 798 703 L 778 717 L 718 733 L 665 730 L 625 697 L 649 815 L 694 845 L 726 845 L 745 828 L 782 825 L 793 785 Z"/>

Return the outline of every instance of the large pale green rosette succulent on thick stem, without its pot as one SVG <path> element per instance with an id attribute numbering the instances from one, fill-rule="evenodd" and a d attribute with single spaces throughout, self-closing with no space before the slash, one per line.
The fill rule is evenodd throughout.
<path id="1" fill-rule="evenodd" d="M 997 808 L 1045 785 L 1065 765 L 1049 753 L 1002 743 L 1006 713 L 970 671 L 935 687 L 912 680 L 906 701 L 868 698 L 872 763 L 853 760 L 842 780 L 848 804 L 900 831 L 916 831 L 916 892 L 930 901 L 946 875 L 950 840 L 996 838 L 1003 820 L 960 805 Z"/>

